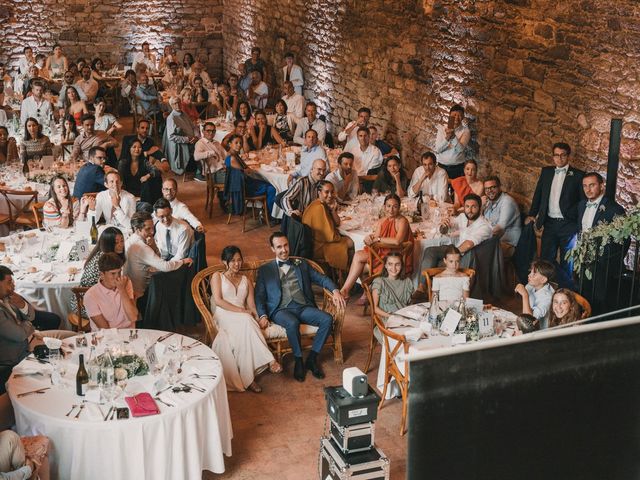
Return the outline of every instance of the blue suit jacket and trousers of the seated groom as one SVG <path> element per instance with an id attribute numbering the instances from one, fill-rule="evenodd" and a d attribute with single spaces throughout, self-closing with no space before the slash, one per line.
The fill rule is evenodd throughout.
<path id="1" fill-rule="evenodd" d="M 302 357 L 300 324 L 317 326 L 318 332 L 313 339 L 311 349 L 319 353 L 329 333 L 331 333 L 333 318 L 328 313 L 317 308 L 311 286 L 315 283 L 330 291 L 335 290 L 337 287 L 328 277 L 316 272 L 304 260 L 294 260 L 290 268 L 296 274 L 298 285 L 305 298 L 305 304 L 302 305 L 292 301 L 289 305 L 280 306 L 282 300 L 280 268 L 277 262 L 273 260 L 258 269 L 255 290 L 258 315 L 266 315 L 271 321 L 284 327 L 287 331 L 287 338 L 291 344 L 293 354 L 296 357 Z"/>

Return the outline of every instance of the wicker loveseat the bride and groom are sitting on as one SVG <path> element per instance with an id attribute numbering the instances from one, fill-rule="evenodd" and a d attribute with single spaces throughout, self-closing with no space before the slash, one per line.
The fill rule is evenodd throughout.
<path id="1" fill-rule="evenodd" d="M 299 257 L 289 257 L 291 259 L 297 259 Z M 324 271 L 320 266 L 311 261 L 304 259 L 314 270 L 324 275 Z M 258 268 L 267 263 L 269 260 L 261 260 L 256 262 L 245 262 L 242 266 L 241 272 L 246 275 L 249 280 L 255 283 L 256 276 L 258 272 Z M 222 272 L 225 270 L 225 266 L 214 265 L 212 267 L 205 268 L 204 270 L 198 272 L 198 274 L 193 278 L 191 282 L 191 294 L 193 295 L 193 299 L 202 315 L 204 320 L 206 335 L 204 342 L 208 345 L 213 342 L 213 339 L 218 334 L 218 326 L 213 320 L 213 313 L 211 311 L 211 303 L 212 303 L 212 291 L 211 291 L 211 276 L 216 272 Z M 333 317 L 333 342 L 327 341 L 326 345 L 333 346 L 333 356 L 334 360 L 338 365 L 342 365 L 342 324 L 344 322 L 344 309 L 336 307 L 333 304 L 333 299 L 331 292 L 324 290 L 323 291 L 323 301 L 321 305 L 321 310 L 329 313 Z M 311 347 L 310 341 L 315 336 L 317 331 L 317 327 L 311 325 L 300 325 L 300 336 L 303 342 L 303 348 L 307 349 Z M 271 323 L 269 327 L 265 330 L 265 338 L 267 340 L 267 345 L 274 353 L 276 360 L 278 362 L 282 362 L 282 357 L 287 353 L 291 353 L 291 346 L 289 345 L 289 341 L 287 340 L 287 334 L 284 328 L 280 325 L 276 325 Z M 304 344 L 307 345 L 304 345 Z"/>

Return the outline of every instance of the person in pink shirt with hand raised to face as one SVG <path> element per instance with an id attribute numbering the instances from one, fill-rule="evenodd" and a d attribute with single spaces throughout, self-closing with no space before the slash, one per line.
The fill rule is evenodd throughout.
<path id="1" fill-rule="evenodd" d="M 131 280 L 122 275 L 124 262 L 117 253 L 98 260 L 98 282 L 84 294 L 84 306 L 92 331 L 101 328 L 135 328 L 138 308 Z"/>

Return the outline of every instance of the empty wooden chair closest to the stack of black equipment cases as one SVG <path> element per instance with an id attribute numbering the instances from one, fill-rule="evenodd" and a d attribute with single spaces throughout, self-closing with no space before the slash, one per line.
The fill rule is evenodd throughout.
<path id="1" fill-rule="evenodd" d="M 367 279 L 368 280 L 368 279 Z M 364 291 L 367 295 L 369 303 L 373 305 L 373 297 L 371 290 L 369 289 L 369 283 L 363 283 Z M 405 434 L 405 425 L 407 423 L 407 406 L 409 402 L 409 362 L 401 362 L 402 367 L 399 367 L 395 361 L 396 355 L 402 352 L 405 356 L 409 353 L 409 342 L 404 335 L 398 334 L 385 327 L 384 322 L 375 313 L 373 307 L 371 308 L 371 318 L 374 321 L 374 325 L 378 327 L 382 334 L 382 348 L 384 351 L 385 365 L 380 365 L 378 368 L 384 368 L 384 387 L 382 389 L 382 400 L 378 405 L 378 410 L 384 405 L 385 397 L 387 395 L 387 388 L 391 378 L 395 379 L 400 388 L 400 394 L 402 395 L 402 419 L 400 420 L 400 435 Z M 373 330 L 372 330 L 373 332 Z"/>

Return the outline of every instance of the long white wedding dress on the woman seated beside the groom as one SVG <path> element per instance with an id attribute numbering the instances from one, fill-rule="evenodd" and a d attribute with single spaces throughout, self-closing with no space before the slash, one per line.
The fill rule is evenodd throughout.
<path id="1" fill-rule="evenodd" d="M 220 274 L 222 298 L 233 305 L 246 308 L 249 280 L 242 276 L 238 289 Z M 211 297 L 213 310 L 215 301 Z M 244 391 L 254 380 L 256 373 L 268 367 L 274 358 L 267 347 L 262 330 L 248 313 L 237 313 L 215 305 L 213 321 L 218 334 L 211 348 L 220 358 L 228 390 Z"/>

